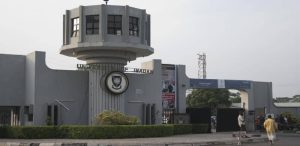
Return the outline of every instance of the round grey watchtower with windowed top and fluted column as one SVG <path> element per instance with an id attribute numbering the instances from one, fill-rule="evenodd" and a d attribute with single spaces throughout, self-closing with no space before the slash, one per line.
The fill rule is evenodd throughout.
<path id="1" fill-rule="evenodd" d="M 89 122 L 103 110 L 124 112 L 128 61 L 153 54 L 150 15 L 130 6 L 93 5 L 67 10 L 60 53 L 86 61 L 89 69 Z"/>

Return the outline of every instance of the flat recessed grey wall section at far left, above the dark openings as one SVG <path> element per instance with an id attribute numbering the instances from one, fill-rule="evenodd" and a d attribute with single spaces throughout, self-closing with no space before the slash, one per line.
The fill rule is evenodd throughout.
<path id="1" fill-rule="evenodd" d="M 0 54 L 0 106 L 21 106 L 25 95 L 25 57 Z"/>

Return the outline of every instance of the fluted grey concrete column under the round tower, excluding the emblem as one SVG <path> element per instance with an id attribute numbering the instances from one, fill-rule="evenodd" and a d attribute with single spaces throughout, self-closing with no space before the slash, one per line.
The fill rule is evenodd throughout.
<path id="1" fill-rule="evenodd" d="M 99 64 L 89 70 L 89 124 L 95 124 L 95 118 L 104 110 L 125 112 L 124 94 L 113 94 L 105 87 L 105 77 L 112 71 L 123 71 L 121 64 Z"/>

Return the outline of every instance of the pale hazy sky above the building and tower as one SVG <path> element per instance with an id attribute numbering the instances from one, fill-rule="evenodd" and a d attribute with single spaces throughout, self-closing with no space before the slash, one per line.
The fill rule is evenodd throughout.
<path id="1" fill-rule="evenodd" d="M 0 54 L 46 52 L 53 69 L 83 63 L 59 54 L 63 14 L 102 0 L 4 0 L 0 5 Z M 110 0 L 151 15 L 154 54 L 129 63 L 161 59 L 186 65 L 198 78 L 206 53 L 208 79 L 272 82 L 273 97 L 300 94 L 300 0 Z"/>

